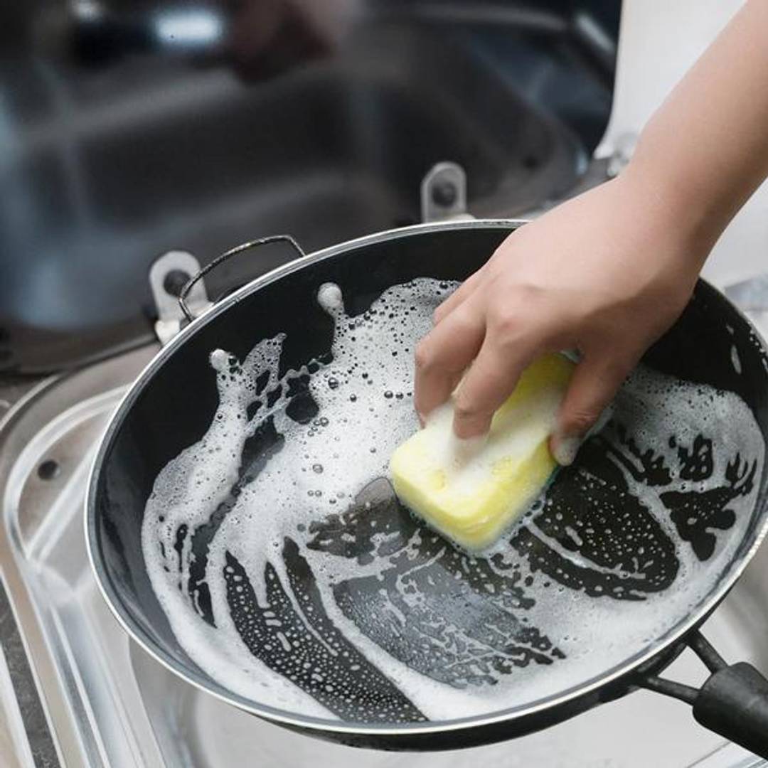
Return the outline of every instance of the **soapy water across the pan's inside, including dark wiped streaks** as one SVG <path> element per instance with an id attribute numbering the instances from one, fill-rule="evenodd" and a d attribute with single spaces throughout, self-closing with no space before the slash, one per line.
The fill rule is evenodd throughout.
<path id="1" fill-rule="evenodd" d="M 283 336 L 211 354 L 219 405 L 157 476 L 142 546 L 177 640 L 223 687 L 363 722 L 530 703 L 644 650 L 733 557 L 763 467 L 753 415 L 642 368 L 492 548 L 412 518 L 383 478 L 418 428 L 413 346 L 454 288 L 414 280 L 352 317 L 321 286 L 332 349 L 283 376 Z"/>

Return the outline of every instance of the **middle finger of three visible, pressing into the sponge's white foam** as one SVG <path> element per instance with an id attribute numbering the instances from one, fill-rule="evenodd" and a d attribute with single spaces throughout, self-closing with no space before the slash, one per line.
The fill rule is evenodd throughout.
<path id="1" fill-rule="evenodd" d="M 536 353 L 533 343 L 521 341 L 510 348 L 493 336 L 485 337 L 455 398 L 453 431 L 458 438 L 488 432 L 494 412 L 515 389 L 520 374 Z"/>

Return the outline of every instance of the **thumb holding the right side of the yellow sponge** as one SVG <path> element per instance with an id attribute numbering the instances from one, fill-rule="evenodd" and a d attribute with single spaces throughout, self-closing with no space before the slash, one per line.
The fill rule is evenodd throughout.
<path id="1" fill-rule="evenodd" d="M 576 366 L 550 448 L 558 464 L 572 464 L 581 443 L 634 368 L 634 359 L 587 356 Z"/>

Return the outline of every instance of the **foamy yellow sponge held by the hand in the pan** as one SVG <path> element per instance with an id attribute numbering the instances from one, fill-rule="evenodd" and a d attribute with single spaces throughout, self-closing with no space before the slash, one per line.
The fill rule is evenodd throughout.
<path id="1" fill-rule="evenodd" d="M 548 438 L 573 369 L 556 354 L 532 363 L 479 445 L 455 438 L 451 402 L 436 409 L 390 459 L 403 504 L 465 548 L 491 545 L 557 466 Z"/>

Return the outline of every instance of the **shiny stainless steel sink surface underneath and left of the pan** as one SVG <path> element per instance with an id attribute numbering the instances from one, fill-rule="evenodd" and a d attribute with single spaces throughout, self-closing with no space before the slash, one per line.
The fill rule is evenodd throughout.
<path id="1" fill-rule="evenodd" d="M 3 494 L 22 500 L 5 507 L 0 561 L 63 766 L 230 768 L 250 764 L 254 756 L 265 768 L 320 763 L 339 768 L 468 768 L 478 762 L 489 768 L 758 764 L 698 727 L 684 705 L 644 691 L 514 744 L 417 756 L 361 752 L 289 733 L 170 674 L 128 639 L 101 600 L 85 558 L 78 515 L 85 491 L 78 466 L 94 449 L 122 386 L 155 350 L 150 347 L 46 383 L 16 406 L 0 429 Z M 52 441 L 51 421 L 61 426 Z M 42 434 L 47 437 L 35 439 Z M 22 457 L 20 452 L 33 439 L 35 450 Z M 65 459 L 61 474 L 41 482 L 38 466 L 51 457 Z M 8 485 L 9 473 L 15 488 Z M 58 501 L 63 495 L 66 502 Z M 61 511 L 65 518 L 54 519 Z M 728 660 L 750 660 L 763 672 L 768 672 L 766 580 L 768 550 L 763 547 L 704 627 Z M 703 680 L 703 667 L 690 652 L 669 673 L 693 685 Z M 654 738 L 641 736 L 647 733 Z"/>

